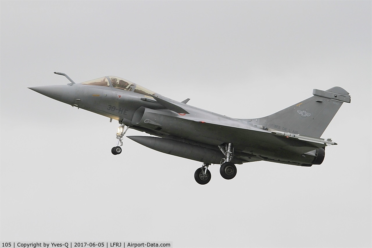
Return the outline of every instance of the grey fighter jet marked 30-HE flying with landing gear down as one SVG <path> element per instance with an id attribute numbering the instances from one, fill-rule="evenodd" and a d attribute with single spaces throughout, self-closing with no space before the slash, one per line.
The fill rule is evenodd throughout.
<path id="1" fill-rule="evenodd" d="M 65 73 L 67 85 L 30 87 L 42 95 L 119 121 L 113 155 L 122 152 L 123 137 L 132 128 L 152 136 L 127 136 L 159 152 L 202 162 L 194 173 L 198 184 L 211 180 L 208 166 L 220 165 L 220 174 L 232 179 L 235 164 L 270 161 L 297 166 L 320 165 L 325 128 L 349 93 L 341 87 L 314 89 L 313 96 L 262 118 L 237 119 L 166 98 L 116 76 L 75 83 Z"/>

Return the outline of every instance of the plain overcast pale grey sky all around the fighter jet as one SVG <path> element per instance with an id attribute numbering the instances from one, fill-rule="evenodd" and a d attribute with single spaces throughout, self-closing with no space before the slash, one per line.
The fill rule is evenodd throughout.
<path id="1" fill-rule="evenodd" d="M 371 1 L 1 1 L 1 240 L 371 247 Z M 27 87 L 115 75 L 235 118 L 340 86 L 322 165 L 201 163 Z M 141 135 L 129 130 L 128 135 Z"/>

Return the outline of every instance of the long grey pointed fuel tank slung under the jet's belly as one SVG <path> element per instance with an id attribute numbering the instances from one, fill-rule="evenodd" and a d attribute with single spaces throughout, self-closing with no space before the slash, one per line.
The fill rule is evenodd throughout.
<path id="1" fill-rule="evenodd" d="M 219 164 L 225 156 L 219 150 L 212 150 L 177 140 L 151 136 L 127 136 L 129 139 L 158 152 L 187 158 L 203 163 Z M 241 161 L 233 161 L 235 163 Z"/>

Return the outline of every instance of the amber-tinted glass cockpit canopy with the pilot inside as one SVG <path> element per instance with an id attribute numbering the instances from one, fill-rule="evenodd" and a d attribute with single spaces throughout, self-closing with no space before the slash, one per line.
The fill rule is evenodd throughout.
<path id="1" fill-rule="evenodd" d="M 133 91 L 134 93 L 139 93 L 142 95 L 152 96 L 155 92 L 148 90 L 140 85 L 132 83 L 131 81 L 122 79 L 115 76 L 101 77 L 98 79 L 93 79 L 84 83 L 82 85 L 95 85 L 95 86 L 106 86 L 113 87 L 119 90 Z"/>

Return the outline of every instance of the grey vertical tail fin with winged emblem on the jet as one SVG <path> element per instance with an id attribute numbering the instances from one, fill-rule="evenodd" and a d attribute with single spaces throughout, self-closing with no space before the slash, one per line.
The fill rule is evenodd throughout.
<path id="1" fill-rule="evenodd" d="M 349 92 L 341 87 L 314 89 L 314 96 L 275 114 L 257 119 L 257 124 L 273 130 L 320 137 L 343 102 L 350 103 Z"/>

